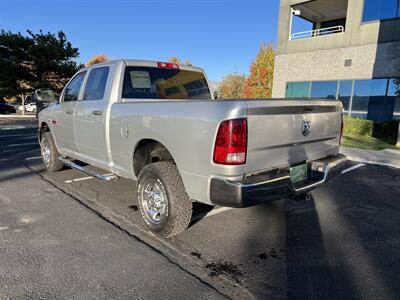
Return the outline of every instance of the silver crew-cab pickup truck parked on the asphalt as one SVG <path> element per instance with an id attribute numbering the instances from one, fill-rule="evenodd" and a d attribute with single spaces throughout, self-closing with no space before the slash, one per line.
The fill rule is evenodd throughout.
<path id="1" fill-rule="evenodd" d="M 164 237 L 186 229 L 193 201 L 305 197 L 340 173 L 341 133 L 339 101 L 214 100 L 202 69 L 137 60 L 79 70 L 39 114 L 48 171 L 136 180 L 144 223 Z"/>

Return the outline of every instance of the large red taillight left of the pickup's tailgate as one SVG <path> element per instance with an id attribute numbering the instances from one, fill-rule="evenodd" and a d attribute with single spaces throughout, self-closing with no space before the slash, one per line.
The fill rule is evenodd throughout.
<path id="1" fill-rule="evenodd" d="M 247 119 L 223 121 L 218 128 L 214 147 L 214 163 L 241 165 L 246 163 Z"/>

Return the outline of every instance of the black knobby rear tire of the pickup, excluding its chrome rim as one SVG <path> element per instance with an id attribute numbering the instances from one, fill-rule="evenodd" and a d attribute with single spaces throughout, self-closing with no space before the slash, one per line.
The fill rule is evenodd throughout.
<path id="1" fill-rule="evenodd" d="M 167 216 L 161 224 L 148 220 L 143 205 L 143 189 L 146 180 L 161 181 L 167 195 Z M 185 191 L 182 178 L 175 164 L 157 162 L 142 168 L 137 181 L 137 201 L 144 224 L 161 237 L 172 237 L 185 231 L 192 218 L 192 202 Z"/>

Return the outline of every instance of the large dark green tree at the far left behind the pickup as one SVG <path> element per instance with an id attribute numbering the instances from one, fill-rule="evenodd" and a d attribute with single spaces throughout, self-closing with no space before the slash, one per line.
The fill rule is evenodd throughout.
<path id="1" fill-rule="evenodd" d="M 35 34 L 27 30 L 0 32 L 0 99 L 21 96 L 36 89 L 60 92 L 79 69 L 75 59 L 78 48 L 72 47 L 65 34 Z"/>

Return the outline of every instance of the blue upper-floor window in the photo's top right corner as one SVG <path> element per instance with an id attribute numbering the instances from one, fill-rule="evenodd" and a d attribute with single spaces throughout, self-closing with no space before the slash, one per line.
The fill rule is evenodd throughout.
<path id="1" fill-rule="evenodd" d="M 398 0 L 364 0 L 363 22 L 395 18 Z"/>

